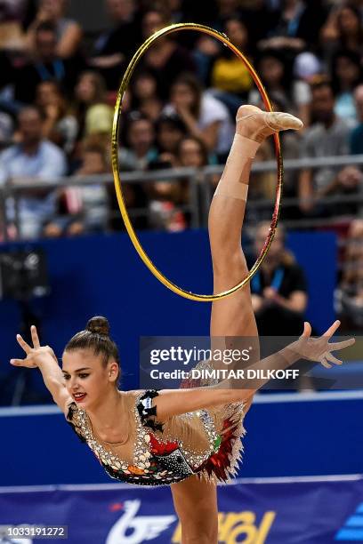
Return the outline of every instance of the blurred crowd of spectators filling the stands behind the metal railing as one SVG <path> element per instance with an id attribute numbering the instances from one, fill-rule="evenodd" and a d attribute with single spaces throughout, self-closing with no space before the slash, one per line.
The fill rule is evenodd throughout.
<path id="1" fill-rule="evenodd" d="M 282 134 L 285 158 L 363 153 L 363 0 L 208 0 L 207 9 L 192 0 L 100 1 L 109 25 L 95 35 L 69 17 L 67 0 L 0 0 L 0 183 L 18 195 L 6 198 L 5 231 L 0 218 L 7 238 L 123 228 L 114 189 L 102 183 L 110 173 L 117 88 L 136 49 L 172 22 L 225 33 L 253 63 L 274 108 L 303 119 L 303 132 Z M 262 106 L 246 66 L 228 47 L 193 31 L 159 39 L 123 97 L 120 170 L 223 164 L 243 103 Z M 271 140 L 256 160 L 273 157 Z M 77 177 L 77 187 L 48 187 L 68 176 Z M 273 199 L 275 174 L 253 178 L 251 201 Z M 217 181 L 209 179 L 212 189 Z M 344 215 L 351 236 L 362 188 L 361 169 L 351 164 L 287 171 L 285 196 L 296 204 L 283 219 Z M 188 180 L 124 189 L 136 228 L 190 226 L 195 193 Z M 327 196 L 337 196 L 335 204 Z M 261 211 L 249 214 L 255 222 L 267 219 Z M 350 247 L 346 253 L 351 259 Z"/>

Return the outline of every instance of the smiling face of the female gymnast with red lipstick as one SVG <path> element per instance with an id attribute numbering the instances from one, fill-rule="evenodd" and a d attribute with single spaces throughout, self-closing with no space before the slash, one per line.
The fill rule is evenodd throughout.
<path id="1" fill-rule="evenodd" d="M 105 366 L 101 355 L 91 349 L 77 349 L 63 353 L 64 380 L 69 395 L 82 408 L 97 406 L 105 396 L 115 390 L 118 365 L 109 359 Z"/>

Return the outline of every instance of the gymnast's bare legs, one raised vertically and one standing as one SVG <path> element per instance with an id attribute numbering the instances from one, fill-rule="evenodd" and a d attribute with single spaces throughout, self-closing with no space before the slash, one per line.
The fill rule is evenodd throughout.
<path id="1" fill-rule="evenodd" d="M 248 273 L 241 247 L 249 173 L 262 141 L 273 132 L 299 129 L 288 114 L 269 114 L 254 106 L 238 109 L 236 136 L 209 212 L 214 292 L 238 284 Z M 211 337 L 257 337 L 249 284 L 212 305 Z M 181 521 L 182 544 L 217 544 L 218 508 L 215 485 L 198 476 L 171 486 Z"/>

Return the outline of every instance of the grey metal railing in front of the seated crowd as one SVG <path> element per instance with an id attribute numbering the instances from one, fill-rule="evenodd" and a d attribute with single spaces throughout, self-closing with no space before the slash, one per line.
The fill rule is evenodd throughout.
<path id="1" fill-rule="evenodd" d="M 363 164 L 363 155 L 358 156 L 330 156 L 324 158 L 311 158 L 311 159 L 288 159 L 284 163 L 284 170 L 299 171 L 303 169 L 316 169 L 320 167 L 334 167 L 339 169 L 351 164 Z M 274 161 L 266 161 L 260 163 L 254 163 L 252 172 L 274 172 L 276 170 L 276 163 Z M 195 168 L 173 168 L 168 170 L 152 171 L 152 172 L 125 172 L 121 175 L 121 180 L 125 184 L 149 184 L 156 181 L 168 181 L 170 183 L 178 183 L 181 180 L 188 180 L 190 183 L 190 202 L 182 206 L 178 206 L 181 211 L 190 212 L 190 227 L 200 228 L 206 227 L 207 216 L 209 211 L 209 205 L 213 197 L 213 185 L 211 180 L 213 178 L 222 175 L 223 166 L 206 166 L 201 169 Z M 110 174 L 95 175 L 90 177 L 67 177 L 57 180 L 47 180 L 46 182 L 36 182 L 31 184 L 31 188 L 44 189 L 44 188 L 66 188 L 66 187 L 85 187 L 88 185 L 111 185 L 113 184 L 113 178 Z M 6 214 L 6 199 L 13 197 L 15 200 L 15 225 L 19 228 L 19 197 L 22 192 L 28 191 L 28 183 L 13 185 L 11 182 L 5 184 L 0 188 L 0 216 L 3 216 L 3 237 L 7 238 L 7 225 L 9 219 Z M 297 207 L 299 205 L 299 198 L 283 198 L 284 208 Z M 332 204 L 362 204 L 363 208 L 363 183 L 362 188 L 357 193 L 351 195 L 335 195 L 326 196 L 319 200 L 319 203 L 325 205 Z M 248 202 L 248 208 L 251 210 L 267 209 L 272 211 L 273 201 L 269 199 L 250 200 Z M 130 217 L 149 216 L 149 208 L 132 208 L 130 211 Z M 118 215 L 118 214 L 117 214 Z M 109 216 L 111 217 L 111 215 Z M 328 226 L 329 224 L 336 223 L 337 220 L 342 219 L 341 216 L 335 216 L 334 218 L 321 219 L 321 218 L 303 218 L 296 220 L 286 220 L 284 224 L 286 228 L 319 228 L 322 226 Z M 347 218 L 347 219 L 351 219 Z"/>

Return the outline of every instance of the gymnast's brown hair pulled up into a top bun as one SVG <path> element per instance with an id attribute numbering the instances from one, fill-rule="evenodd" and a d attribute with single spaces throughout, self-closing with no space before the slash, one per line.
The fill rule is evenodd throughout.
<path id="1" fill-rule="evenodd" d="M 118 366 L 120 358 L 117 345 L 109 337 L 109 321 L 106 317 L 92 317 L 84 331 L 77 332 L 70 340 L 64 351 L 91 349 L 95 356 L 102 356 L 102 366 L 106 367 L 109 359 L 115 359 Z"/>

